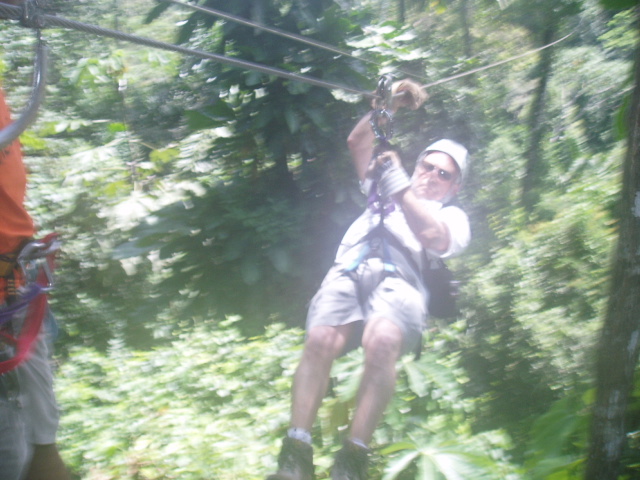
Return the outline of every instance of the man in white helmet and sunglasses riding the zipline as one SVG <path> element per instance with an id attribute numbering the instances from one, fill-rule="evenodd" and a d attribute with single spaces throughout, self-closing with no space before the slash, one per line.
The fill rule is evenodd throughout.
<path id="1" fill-rule="evenodd" d="M 414 82 L 405 80 L 393 87 L 404 95 L 394 95 L 392 112 L 400 107 L 417 109 L 426 99 Z M 426 263 L 457 255 L 469 244 L 467 215 L 450 204 L 468 169 L 467 150 L 451 140 L 439 140 L 424 149 L 409 177 L 395 152 L 373 158 L 374 142 L 366 115 L 347 143 L 363 192 L 368 193 L 375 182 L 388 203 L 370 202 L 351 225 L 311 301 L 304 351 L 293 381 L 291 424 L 278 457 L 278 472 L 267 480 L 314 478 L 310 432 L 332 363 L 359 345 L 364 348 L 364 373 L 348 437 L 336 455 L 331 478 L 367 478 L 368 445 L 394 393 L 396 361 L 419 347 L 425 328 Z"/>

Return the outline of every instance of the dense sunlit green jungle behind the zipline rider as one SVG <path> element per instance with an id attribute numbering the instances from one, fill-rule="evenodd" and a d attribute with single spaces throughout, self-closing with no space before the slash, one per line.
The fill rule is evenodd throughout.
<path id="1" fill-rule="evenodd" d="M 614 2 L 616 3 L 616 2 Z M 633 2 L 626 2 L 633 4 Z M 411 171 L 468 146 L 473 230 L 449 262 L 459 316 L 398 368 L 372 478 L 583 478 L 619 233 L 637 16 L 595 0 L 206 0 L 338 55 L 153 0 L 52 1 L 81 22 L 372 91 L 434 85 L 395 118 Z M 618 2 L 624 7 L 625 2 Z M 45 29 L 47 97 L 21 141 L 28 206 L 61 235 L 59 445 L 78 479 L 259 479 L 275 469 L 306 304 L 361 212 L 346 150 L 360 95 L 86 33 Z M 17 114 L 34 36 L 0 22 Z M 636 315 L 638 315 L 636 313 Z M 314 429 L 327 478 L 361 352 Z M 619 478 L 640 477 L 640 385 Z"/>

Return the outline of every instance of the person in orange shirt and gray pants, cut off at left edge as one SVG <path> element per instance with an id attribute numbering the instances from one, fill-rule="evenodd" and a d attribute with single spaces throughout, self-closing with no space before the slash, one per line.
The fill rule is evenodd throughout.
<path id="1" fill-rule="evenodd" d="M 0 89 L 0 129 L 10 123 Z M 33 220 L 24 207 L 26 186 L 21 147 L 15 140 L 0 151 L 0 312 L 12 301 L 7 287 L 15 281 L 17 254 L 35 233 Z M 45 337 L 41 332 L 25 362 L 0 374 L 2 480 L 71 478 L 55 443 L 59 413 Z M 0 357 L 7 354 L 4 347 L 0 341 Z"/>

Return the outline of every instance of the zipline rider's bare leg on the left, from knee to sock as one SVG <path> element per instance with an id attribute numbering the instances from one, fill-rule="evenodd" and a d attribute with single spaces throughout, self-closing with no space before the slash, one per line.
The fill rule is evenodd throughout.
<path id="1" fill-rule="evenodd" d="M 329 386 L 331 365 L 343 352 L 353 324 L 317 326 L 307 337 L 293 379 L 291 426 L 311 431 Z"/>

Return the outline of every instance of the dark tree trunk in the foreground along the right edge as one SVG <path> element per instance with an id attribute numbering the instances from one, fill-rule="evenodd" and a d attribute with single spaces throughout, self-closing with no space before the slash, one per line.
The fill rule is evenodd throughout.
<path id="1" fill-rule="evenodd" d="M 634 68 L 620 237 L 596 366 L 597 394 L 586 480 L 618 478 L 626 436 L 625 412 L 640 345 L 640 46 Z"/>

